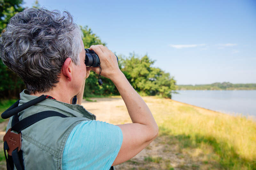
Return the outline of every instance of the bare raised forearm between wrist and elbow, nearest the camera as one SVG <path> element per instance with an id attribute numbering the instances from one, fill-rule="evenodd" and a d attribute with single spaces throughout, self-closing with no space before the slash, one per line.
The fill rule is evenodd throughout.
<path id="1" fill-rule="evenodd" d="M 124 100 L 132 122 L 148 125 L 158 132 L 158 126 L 147 104 L 133 89 L 124 74 L 120 72 L 118 76 L 112 78 L 112 81 Z"/>

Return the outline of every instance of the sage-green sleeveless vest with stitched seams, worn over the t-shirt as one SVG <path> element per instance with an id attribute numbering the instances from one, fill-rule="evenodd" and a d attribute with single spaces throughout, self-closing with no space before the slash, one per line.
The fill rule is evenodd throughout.
<path id="1" fill-rule="evenodd" d="M 29 95 L 28 91 L 24 90 L 20 93 L 19 105 L 35 98 L 37 97 Z M 25 170 L 61 170 L 62 154 L 69 133 L 81 121 L 96 120 L 96 116 L 81 105 L 71 105 L 53 99 L 43 100 L 21 111 L 19 120 L 47 110 L 57 111 L 68 117 L 48 117 L 21 131 L 21 150 Z M 11 123 L 12 117 L 8 122 L 6 132 L 11 128 Z"/>

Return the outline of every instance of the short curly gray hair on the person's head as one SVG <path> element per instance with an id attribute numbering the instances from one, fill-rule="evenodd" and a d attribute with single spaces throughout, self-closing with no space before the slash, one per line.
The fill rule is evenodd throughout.
<path id="1" fill-rule="evenodd" d="M 67 11 L 26 9 L 10 19 L 1 35 L 3 63 L 23 79 L 30 94 L 52 90 L 68 57 L 80 64 L 83 33 Z"/>

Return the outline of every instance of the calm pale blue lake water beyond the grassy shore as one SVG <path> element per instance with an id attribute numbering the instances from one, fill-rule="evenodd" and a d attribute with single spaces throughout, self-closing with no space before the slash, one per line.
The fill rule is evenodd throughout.
<path id="1" fill-rule="evenodd" d="M 177 90 L 172 100 L 222 113 L 256 116 L 256 90 Z"/>

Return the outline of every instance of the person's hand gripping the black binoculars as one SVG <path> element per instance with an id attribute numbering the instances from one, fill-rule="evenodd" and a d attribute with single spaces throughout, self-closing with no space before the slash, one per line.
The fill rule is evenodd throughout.
<path id="1" fill-rule="evenodd" d="M 95 71 L 97 74 L 113 79 L 118 74 L 122 73 L 118 67 L 118 62 L 116 59 L 116 55 L 110 51 L 107 47 L 103 45 L 92 45 L 90 50 L 93 50 L 100 58 L 100 67 L 92 67 L 92 70 Z"/>

